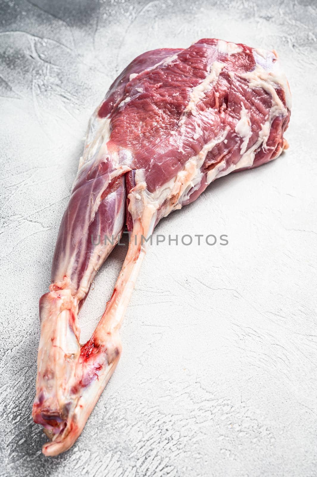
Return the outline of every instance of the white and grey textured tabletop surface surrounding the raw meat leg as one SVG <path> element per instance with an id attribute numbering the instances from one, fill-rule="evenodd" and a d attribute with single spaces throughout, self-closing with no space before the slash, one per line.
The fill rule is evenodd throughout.
<path id="1" fill-rule="evenodd" d="M 269 3 L 0 0 L 1 477 L 317 475 L 317 3 Z M 277 50 L 290 148 L 159 224 L 229 245 L 149 249 L 119 366 L 76 445 L 46 458 L 38 300 L 89 115 L 135 56 L 203 37 Z M 125 251 L 84 304 L 86 338 Z"/>

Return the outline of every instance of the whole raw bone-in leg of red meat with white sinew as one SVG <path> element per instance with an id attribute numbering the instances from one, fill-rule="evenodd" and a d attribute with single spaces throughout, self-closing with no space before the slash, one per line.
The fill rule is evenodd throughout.
<path id="1" fill-rule="evenodd" d="M 72 446 L 116 368 L 119 327 L 148 245 L 142 236 L 216 178 L 279 156 L 289 116 L 276 53 L 216 39 L 144 53 L 111 85 L 90 120 L 50 292 L 40 299 L 33 419 L 51 438 L 45 455 Z M 80 305 L 126 225 L 133 239 L 115 289 L 80 345 Z"/>

